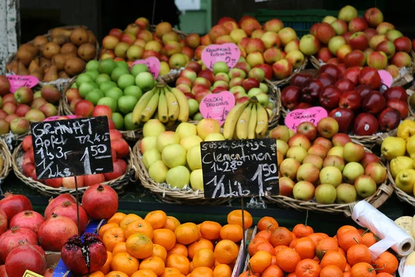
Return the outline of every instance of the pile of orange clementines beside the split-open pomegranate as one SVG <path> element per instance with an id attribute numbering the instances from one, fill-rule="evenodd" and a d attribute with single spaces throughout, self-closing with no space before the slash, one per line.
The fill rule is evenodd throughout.
<path id="1" fill-rule="evenodd" d="M 244 211 L 245 228 L 252 216 Z M 242 212 L 228 215 L 228 224 L 205 221 L 181 224 L 163 211 L 144 219 L 116 213 L 98 233 L 108 258 L 89 277 L 231 277 L 243 238 Z"/>

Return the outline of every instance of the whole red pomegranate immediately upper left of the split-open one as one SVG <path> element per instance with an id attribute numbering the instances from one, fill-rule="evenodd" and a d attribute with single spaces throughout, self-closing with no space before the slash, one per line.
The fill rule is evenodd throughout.
<path id="1" fill-rule="evenodd" d="M 52 214 L 37 231 L 39 243 L 46 251 L 61 251 L 66 240 L 77 234 L 71 218 Z"/>

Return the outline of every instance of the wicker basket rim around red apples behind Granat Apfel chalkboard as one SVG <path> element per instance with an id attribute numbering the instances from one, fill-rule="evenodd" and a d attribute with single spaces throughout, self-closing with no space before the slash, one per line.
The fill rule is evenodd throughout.
<path id="1" fill-rule="evenodd" d="M 24 184 L 30 186 L 31 188 L 39 191 L 40 194 L 46 195 L 46 196 L 57 196 L 61 195 L 62 193 L 71 193 L 71 195 L 76 194 L 75 188 L 52 188 L 50 186 L 46 186 L 45 184 L 42 184 L 39 181 L 35 181 L 32 178 L 26 177 L 23 172 L 21 171 L 21 164 L 23 163 L 23 156 L 24 151 L 21 147 L 21 144 L 15 148 L 12 154 L 12 166 L 13 170 L 15 171 L 15 175 L 17 178 L 19 178 Z M 124 186 L 127 186 L 129 184 L 130 179 L 135 178 L 135 167 L 134 167 L 134 158 L 133 153 L 129 151 L 129 157 L 127 158 L 127 170 L 124 173 L 124 175 L 121 175 L 120 177 L 113 179 L 111 181 L 105 181 L 104 185 L 111 186 L 114 190 L 117 191 L 118 194 L 124 192 Z M 78 193 L 82 195 L 87 187 L 78 188 Z"/>

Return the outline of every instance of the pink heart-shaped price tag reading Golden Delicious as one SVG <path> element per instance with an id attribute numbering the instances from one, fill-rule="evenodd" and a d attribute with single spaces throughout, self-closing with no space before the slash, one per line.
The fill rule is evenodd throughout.
<path id="1" fill-rule="evenodd" d="M 226 116 L 235 105 L 235 98 L 230 91 L 208 94 L 199 104 L 203 118 L 214 118 L 222 126 Z"/>

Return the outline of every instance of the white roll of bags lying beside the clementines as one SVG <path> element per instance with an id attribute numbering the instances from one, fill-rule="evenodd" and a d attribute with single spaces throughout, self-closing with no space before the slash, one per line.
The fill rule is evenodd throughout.
<path id="1" fill-rule="evenodd" d="M 407 256 L 413 251 L 414 238 L 368 202 L 358 202 L 353 208 L 351 218 L 380 238 L 380 241 L 369 247 L 372 260 L 389 248 L 394 249 L 400 256 Z"/>

